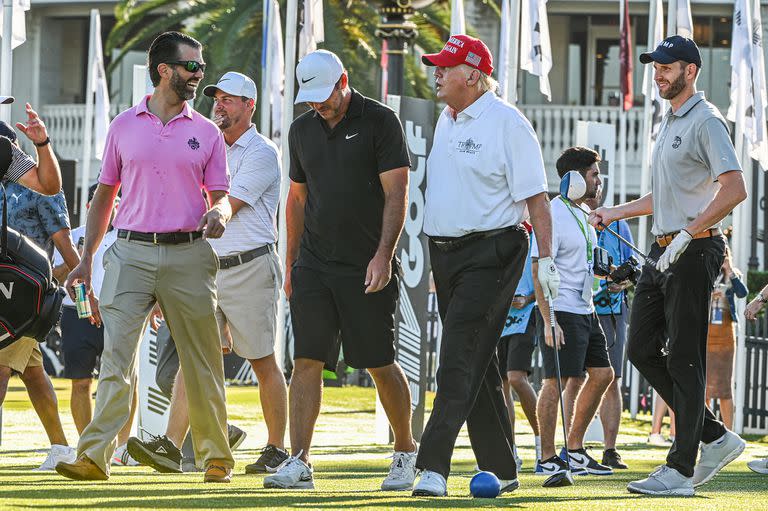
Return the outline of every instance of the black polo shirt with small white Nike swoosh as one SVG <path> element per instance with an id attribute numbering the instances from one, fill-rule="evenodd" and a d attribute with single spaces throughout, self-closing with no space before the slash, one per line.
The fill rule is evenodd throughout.
<path id="1" fill-rule="evenodd" d="M 381 238 L 379 174 L 410 166 L 403 127 L 392 109 L 354 89 L 332 130 L 310 110 L 288 134 L 291 180 L 307 185 L 298 266 L 365 272 Z"/>

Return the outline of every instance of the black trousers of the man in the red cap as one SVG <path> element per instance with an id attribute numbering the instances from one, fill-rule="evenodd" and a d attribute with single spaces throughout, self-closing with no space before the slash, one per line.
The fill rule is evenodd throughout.
<path id="1" fill-rule="evenodd" d="M 522 227 L 449 252 L 430 242 L 443 335 L 437 394 L 421 437 L 418 468 L 447 478 L 466 422 L 480 469 L 500 479 L 517 477 L 496 351 L 527 253 Z"/>

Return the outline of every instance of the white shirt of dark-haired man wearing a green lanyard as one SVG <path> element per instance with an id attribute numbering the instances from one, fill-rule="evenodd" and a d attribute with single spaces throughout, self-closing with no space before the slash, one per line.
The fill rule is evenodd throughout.
<path id="1" fill-rule="evenodd" d="M 591 245 L 594 251 L 597 246 L 597 233 L 587 222 L 584 213 L 579 212 L 574 205 L 571 205 L 571 209 L 573 211 L 569 211 L 559 196 L 552 199 L 552 256 L 560 273 L 560 287 L 554 306 L 558 312 L 592 314 L 595 305 L 591 294 L 589 300 L 584 300 L 581 293 L 587 279 L 590 288 L 594 283 L 587 247 Z M 539 247 L 536 243 L 531 247 L 531 257 L 539 257 Z"/>

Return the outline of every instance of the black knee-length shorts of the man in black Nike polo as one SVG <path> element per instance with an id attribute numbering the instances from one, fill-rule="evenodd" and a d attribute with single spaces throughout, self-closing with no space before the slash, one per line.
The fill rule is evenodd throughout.
<path id="1" fill-rule="evenodd" d="M 395 308 L 399 278 L 377 293 L 365 294 L 358 275 L 336 275 L 306 266 L 291 270 L 293 358 L 320 360 L 336 369 L 339 347 L 355 369 L 395 361 Z"/>

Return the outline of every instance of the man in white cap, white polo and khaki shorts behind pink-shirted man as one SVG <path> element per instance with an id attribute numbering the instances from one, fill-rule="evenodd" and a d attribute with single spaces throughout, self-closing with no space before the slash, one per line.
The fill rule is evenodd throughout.
<path id="1" fill-rule="evenodd" d="M 241 73 L 225 73 L 203 89 L 214 98 L 213 121 L 227 143 L 231 175 L 232 219 L 219 239 L 209 240 L 219 257 L 216 275 L 222 350 L 234 351 L 250 362 L 259 381 L 267 425 L 267 446 L 246 473 L 274 472 L 288 458 L 284 438 L 287 422 L 285 377 L 275 359 L 277 303 L 283 272 L 275 250 L 277 204 L 280 200 L 280 153 L 251 123 L 256 108 L 256 84 Z M 181 472 L 181 452 L 189 429 L 183 373 L 173 386 L 172 420 L 166 434 L 150 442 L 128 441 L 128 452 L 161 472 Z M 230 426 L 230 447 L 245 434 Z M 232 430 L 239 432 L 233 438 Z"/>

